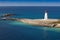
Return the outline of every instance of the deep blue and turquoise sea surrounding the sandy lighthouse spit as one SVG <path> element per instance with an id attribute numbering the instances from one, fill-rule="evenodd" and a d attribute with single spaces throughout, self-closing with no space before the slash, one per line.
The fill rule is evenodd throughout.
<path id="1" fill-rule="evenodd" d="M 51 6 L 13 6 L 0 7 L 0 15 L 16 14 L 16 18 L 39 19 L 48 10 L 48 17 L 59 19 L 60 7 Z M 60 40 L 60 28 L 32 26 L 16 21 L 0 20 L 0 40 Z"/>

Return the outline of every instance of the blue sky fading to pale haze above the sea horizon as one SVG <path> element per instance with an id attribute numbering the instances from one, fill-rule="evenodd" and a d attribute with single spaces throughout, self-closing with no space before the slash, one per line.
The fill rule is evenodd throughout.
<path id="1" fill-rule="evenodd" d="M 60 6 L 60 0 L 0 0 L 0 6 Z"/>

